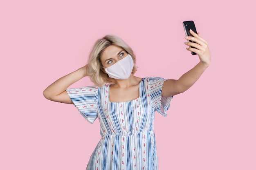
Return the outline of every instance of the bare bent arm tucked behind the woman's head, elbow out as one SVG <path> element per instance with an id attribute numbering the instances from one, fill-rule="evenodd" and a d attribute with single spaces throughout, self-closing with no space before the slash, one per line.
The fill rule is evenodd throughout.
<path id="1" fill-rule="evenodd" d="M 45 96 L 45 98 L 54 102 L 73 104 L 72 100 L 66 92 L 66 89 L 71 84 L 74 84 L 85 76 L 87 76 L 86 66 L 83 66 L 78 70 L 61 77 L 60 79 L 49 85 L 43 92 L 43 95 Z"/>

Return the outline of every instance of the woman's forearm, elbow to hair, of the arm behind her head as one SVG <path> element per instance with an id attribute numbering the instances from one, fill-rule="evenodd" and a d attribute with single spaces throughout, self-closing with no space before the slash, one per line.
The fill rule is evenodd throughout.
<path id="1" fill-rule="evenodd" d="M 56 80 L 54 83 L 52 83 L 45 89 L 45 91 L 43 92 L 43 95 L 45 96 L 45 98 L 52 100 L 52 98 L 54 98 L 57 95 L 60 95 L 70 85 L 74 84 L 75 82 L 79 81 L 81 78 L 85 76 L 86 76 L 86 68 L 84 66 Z"/>

